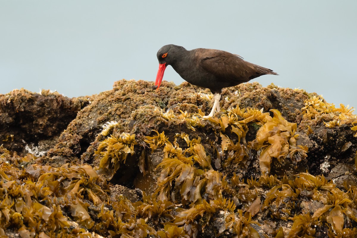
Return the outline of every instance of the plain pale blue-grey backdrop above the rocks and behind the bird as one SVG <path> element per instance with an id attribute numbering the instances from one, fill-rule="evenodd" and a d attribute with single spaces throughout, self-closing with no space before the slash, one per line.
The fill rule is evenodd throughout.
<path id="1" fill-rule="evenodd" d="M 69 97 L 115 81 L 155 81 L 166 44 L 241 55 L 303 88 L 357 107 L 357 1 L 0 0 L 0 94 L 15 88 Z M 167 67 L 164 80 L 183 82 Z"/>

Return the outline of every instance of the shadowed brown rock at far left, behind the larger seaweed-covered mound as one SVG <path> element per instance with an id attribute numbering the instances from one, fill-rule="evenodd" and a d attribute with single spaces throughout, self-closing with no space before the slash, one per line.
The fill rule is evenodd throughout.
<path id="1" fill-rule="evenodd" d="M 12 151 L 44 155 L 88 104 L 88 98 L 68 98 L 50 90 L 16 89 L 0 95 L 0 141 Z"/>

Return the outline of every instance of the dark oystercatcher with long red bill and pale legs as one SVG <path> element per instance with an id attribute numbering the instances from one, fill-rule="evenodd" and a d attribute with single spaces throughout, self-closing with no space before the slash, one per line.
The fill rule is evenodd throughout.
<path id="1" fill-rule="evenodd" d="M 210 114 L 203 118 L 213 117 L 216 111 L 220 112 L 222 88 L 236 86 L 266 74 L 278 75 L 271 69 L 252 64 L 239 55 L 223 50 L 186 50 L 182 46 L 170 44 L 162 46 L 156 56 L 159 60 L 159 70 L 153 90 L 159 90 L 168 65 L 187 82 L 211 90 L 213 107 Z"/>

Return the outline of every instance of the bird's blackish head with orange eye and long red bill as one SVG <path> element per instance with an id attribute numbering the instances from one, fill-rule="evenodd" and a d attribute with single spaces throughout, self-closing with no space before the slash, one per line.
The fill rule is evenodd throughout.
<path id="1" fill-rule="evenodd" d="M 182 51 L 182 49 L 185 50 L 182 46 L 164 45 L 157 51 L 156 56 L 157 60 L 159 60 L 159 71 L 157 71 L 155 86 L 152 86 L 152 89 L 159 89 L 167 65 L 175 62 L 177 53 L 180 50 Z"/>

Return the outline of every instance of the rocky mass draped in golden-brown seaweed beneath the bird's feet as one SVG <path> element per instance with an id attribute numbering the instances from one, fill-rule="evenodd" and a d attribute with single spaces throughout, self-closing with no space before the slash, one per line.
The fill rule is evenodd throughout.
<path id="1" fill-rule="evenodd" d="M 352 108 L 254 82 L 223 89 L 203 119 L 209 90 L 152 86 L 121 80 L 91 103 L 3 95 L 0 123 L 25 126 L 2 129 L 0 235 L 356 237 Z M 15 135 L 55 143 L 35 157 Z"/>

